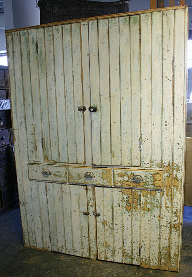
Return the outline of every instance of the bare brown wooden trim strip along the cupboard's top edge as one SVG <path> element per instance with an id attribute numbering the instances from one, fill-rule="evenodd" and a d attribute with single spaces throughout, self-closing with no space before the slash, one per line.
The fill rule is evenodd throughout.
<path id="1" fill-rule="evenodd" d="M 29 27 L 22 27 L 22 28 L 17 28 L 17 29 L 6 30 L 5 33 L 7 35 L 11 32 L 17 32 L 20 30 L 39 29 L 39 28 L 43 28 L 43 27 L 52 27 L 52 26 L 57 26 L 57 25 L 69 24 L 69 23 L 91 21 L 91 20 L 96 20 L 96 19 L 107 19 L 107 18 L 113 18 L 113 17 L 131 16 L 131 15 L 137 15 L 137 14 L 145 14 L 145 13 L 149 13 L 149 12 L 161 12 L 161 11 L 177 10 L 177 9 L 188 9 L 188 5 L 165 7 L 165 8 L 160 8 L 160 9 L 150 9 L 150 10 L 142 10 L 142 11 L 132 11 L 132 12 L 125 12 L 125 13 L 120 13 L 120 14 L 107 14 L 104 16 L 85 17 L 85 18 L 80 18 L 80 19 L 71 19 L 71 20 L 66 20 L 66 21 L 52 22 L 52 23 L 41 24 L 41 25 L 36 25 L 36 26 L 29 26 Z"/>

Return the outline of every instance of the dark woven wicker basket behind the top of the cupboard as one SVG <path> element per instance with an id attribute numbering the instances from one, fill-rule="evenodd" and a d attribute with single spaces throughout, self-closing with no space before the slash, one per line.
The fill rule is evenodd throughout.
<path id="1" fill-rule="evenodd" d="M 40 24 L 129 11 L 130 0 L 39 0 Z"/>

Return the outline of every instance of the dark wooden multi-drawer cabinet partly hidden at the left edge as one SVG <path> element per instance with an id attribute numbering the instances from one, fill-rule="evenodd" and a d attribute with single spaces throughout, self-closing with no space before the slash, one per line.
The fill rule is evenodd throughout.
<path id="1" fill-rule="evenodd" d="M 11 112 L 6 105 L 9 99 L 7 66 L 0 65 L 0 214 L 18 201 L 17 180 L 9 153 L 11 140 Z M 6 101 L 6 102 L 4 102 Z"/>

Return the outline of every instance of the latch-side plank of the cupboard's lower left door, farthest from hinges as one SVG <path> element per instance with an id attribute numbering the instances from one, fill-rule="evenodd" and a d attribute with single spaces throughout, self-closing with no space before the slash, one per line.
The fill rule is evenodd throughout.
<path id="1" fill-rule="evenodd" d="M 82 257 L 90 258 L 89 254 L 89 229 L 88 215 L 83 212 L 88 211 L 87 207 L 87 189 L 86 186 L 79 186 L 79 212 L 80 212 L 80 229 L 81 229 L 81 249 Z"/>

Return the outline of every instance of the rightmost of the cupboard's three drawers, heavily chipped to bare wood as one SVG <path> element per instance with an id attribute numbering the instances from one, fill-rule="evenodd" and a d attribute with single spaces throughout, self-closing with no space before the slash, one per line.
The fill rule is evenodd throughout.
<path id="1" fill-rule="evenodd" d="M 162 171 L 114 169 L 114 186 L 162 189 Z"/>

